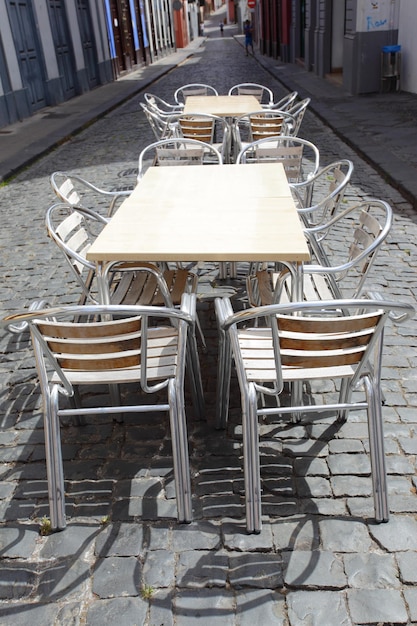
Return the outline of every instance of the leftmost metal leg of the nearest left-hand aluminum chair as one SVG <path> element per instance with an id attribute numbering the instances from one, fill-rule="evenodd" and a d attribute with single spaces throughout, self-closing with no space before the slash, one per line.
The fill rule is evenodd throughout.
<path id="1" fill-rule="evenodd" d="M 65 490 L 56 386 L 52 387 L 51 393 L 45 399 L 44 431 L 51 528 L 62 530 L 66 527 Z"/>

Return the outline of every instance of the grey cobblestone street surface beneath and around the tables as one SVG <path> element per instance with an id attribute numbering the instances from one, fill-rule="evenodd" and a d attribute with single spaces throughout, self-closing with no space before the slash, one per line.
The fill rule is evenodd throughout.
<path id="1" fill-rule="evenodd" d="M 172 100 L 188 82 L 220 93 L 256 81 L 276 98 L 285 89 L 246 58 L 234 26 L 206 26 L 208 39 L 149 91 Z M 142 95 L 22 171 L 0 188 L 2 315 L 34 298 L 78 297 L 45 235 L 54 202 L 48 177 L 70 170 L 113 189 L 131 188 L 139 151 L 153 140 Z M 390 202 L 395 221 L 371 283 L 415 302 L 416 215 L 409 201 L 313 113 L 302 136 L 323 164 L 354 162 L 347 201 Z M 219 198 L 220 200 L 220 198 Z M 221 228 L 221 224 L 219 224 Z M 226 433 L 213 427 L 216 330 L 213 296 L 240 298 L 241 284 L 216 283 L 206 267 L 199 310 L 208 350 L 201 354 L 207 420 L 189 416 L 195 521 L 175 521 L 169 429 L 155 416 L 63 424 L 68 527 L 40 536 L 48 514 L 39 390 L 28 337 L 1 335 L 0 624 L 336 626 L 417 624 L 416 321 L 389 327 L 383 369 L 391 518 L 372 521 L 365 417 L 261 424 L 263 530 L 245 533 L 240 398 L 232 387 Z M 322 386 L 320 393 L 331 392 Z"/>

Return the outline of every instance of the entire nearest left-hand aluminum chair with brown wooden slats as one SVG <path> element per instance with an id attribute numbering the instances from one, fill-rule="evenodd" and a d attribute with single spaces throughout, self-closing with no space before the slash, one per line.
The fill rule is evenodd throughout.
<path id="1" fill-rule="evenodd" d="M 1 325 L 30 328 L 44 406 L 44 432 L 50 520 L 66 526 L 60 418 L 79 415 L 168 412 L 179 522 L 192 520 L 185 366 L 195 410 L 203 411 L 195 342 L 195 295 L 184 295 L 180 310 L 166 307 L 69 306 L 10 315 Z M 82 322 L 74 321 L 82 318 Z M 142 402 L 88 408 L 68 407 L 75 389 L 133 383 Z M 166 399 L 161 394 L 166 391 Z M 144 404 L 147 394 L 158 394 Z M 91 396 L 89 396 L 90 399 Z M 99 398 L 102 397 L 100 394 Z M 161 402 L 162 400 L 162 402 Z"/>

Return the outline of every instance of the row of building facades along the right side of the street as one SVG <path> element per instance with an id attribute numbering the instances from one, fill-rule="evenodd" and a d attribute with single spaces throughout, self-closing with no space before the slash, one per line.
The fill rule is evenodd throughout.
<path id="1" fill-rule="evenodd" d="M 353 95 L 380 91 L 392 71 L 396 85 L 417 93 L 416 0 L 257 0 L 252 19 L 263 54 Z"/>

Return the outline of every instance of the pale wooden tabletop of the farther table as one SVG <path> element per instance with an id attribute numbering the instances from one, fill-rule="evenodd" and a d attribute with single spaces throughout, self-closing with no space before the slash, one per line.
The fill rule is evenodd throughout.
<path id="1" fill-rule="evenodd" d="M 185 100 L 184 113 L 211 113 L 220 117 L 237 117 L 252 111 L 259 111 L 262 106 L 255 96 L 188 96 Z"/>

